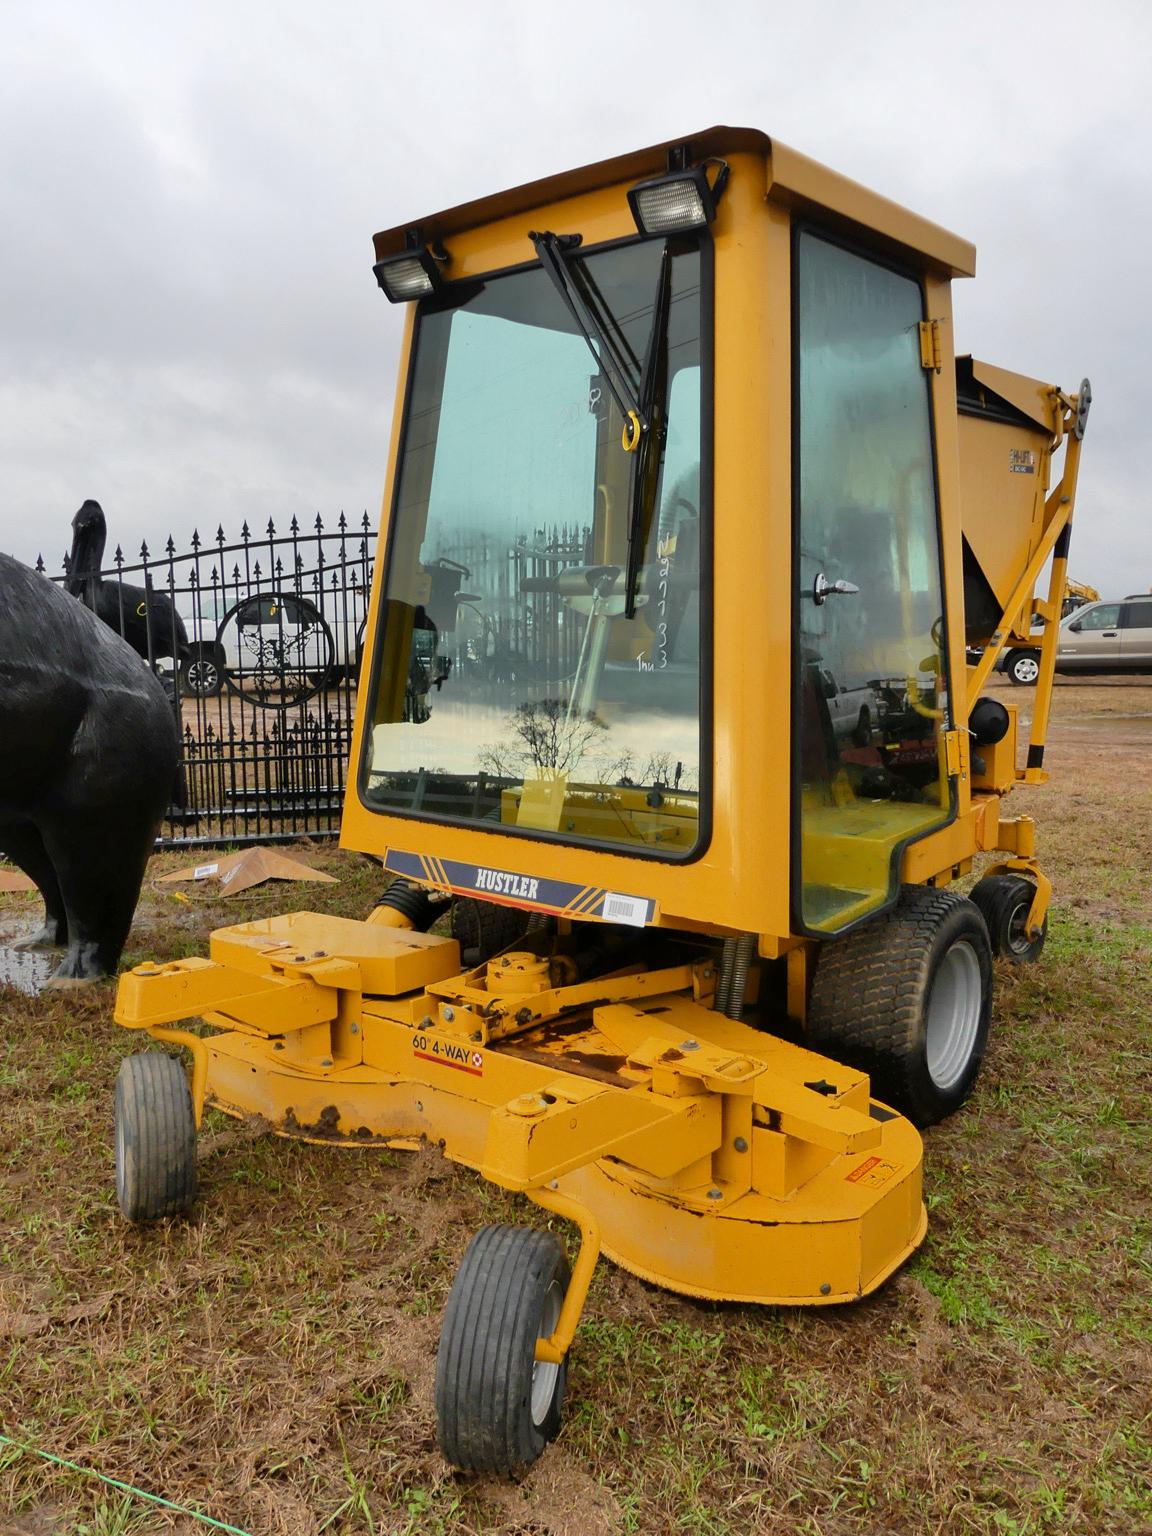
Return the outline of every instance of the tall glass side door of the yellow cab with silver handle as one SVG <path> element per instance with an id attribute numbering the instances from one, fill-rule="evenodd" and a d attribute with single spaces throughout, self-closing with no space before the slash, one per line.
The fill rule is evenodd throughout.
<path id="1" fill-rule="evenodd" d="M 808 229 L 793 260 L 793 906 L 826 934 L 951 816 L 945 611 L 920 278 Z"/>

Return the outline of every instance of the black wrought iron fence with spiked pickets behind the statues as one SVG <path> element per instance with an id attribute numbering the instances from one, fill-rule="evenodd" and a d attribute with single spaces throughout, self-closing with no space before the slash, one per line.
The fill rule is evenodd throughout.
<path id="1" fill-rule="evenodd" d="M 169 538 L 101 565 L 74 544 L 63 582 L 158 673 L 183 742 L 183 788 L 160 845 L 335 836 L 372 590 L 367 513 L 333 528 L 269 521 L 232 542 Z M 45 562 L 37 562 L 45 570 Z"/>

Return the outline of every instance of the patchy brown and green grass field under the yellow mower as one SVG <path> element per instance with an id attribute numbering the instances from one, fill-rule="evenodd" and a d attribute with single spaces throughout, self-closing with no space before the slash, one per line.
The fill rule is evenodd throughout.
<path id="1" fill-rule="evenodd" d="M 1028 702 L 1021 690 L 1014 702 Z M 926 1135 L 928 1240 L 842 1309 L 703 1306 L 602 1263 L 561 1439 L 519 1485 L 433 1439 L 439 1313 L 484 1221 L 542 1212 L 435 1154 L 210 1115 L 187 1223 L 129 1229 L 111 991 L 0 991 L 0 1424 L 252 1536 L 1152 1531 L 1152 685 L 1057 688 L 1040 965 L 997 966 L 974 1100 Z M 164 856 L 155 872 L 184 860 Z M 336 886 L 146 889 L 127 963 Z M 0 926 L 32 903 L 0 897 Z M 203 1531 L 0 1444 L 0 1533 Z"/>

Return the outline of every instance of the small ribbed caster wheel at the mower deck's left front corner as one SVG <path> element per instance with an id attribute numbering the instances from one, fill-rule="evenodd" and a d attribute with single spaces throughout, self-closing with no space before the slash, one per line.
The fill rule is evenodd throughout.
<path id="1" fill-rule="evenodd" d="M 126 1057 L 117 1075 L 117 1200 L 129 1221 L 183 1215 L 197 1198 L 197 1118 L 181 1063 Z"/>

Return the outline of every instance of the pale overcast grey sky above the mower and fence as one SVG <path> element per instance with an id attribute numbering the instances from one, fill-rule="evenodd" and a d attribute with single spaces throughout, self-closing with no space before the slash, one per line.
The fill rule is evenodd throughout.
<path id="1" fill-rule="evenodd" d="M 957 344 L 1092 378 L 1072 571 L 1152 585 L 1152 5 L 0 0 L 0 548 L 375 522 L 370 237 L 713 123 L 972 240 Z"/>

